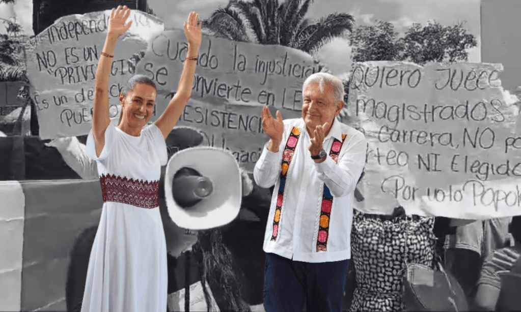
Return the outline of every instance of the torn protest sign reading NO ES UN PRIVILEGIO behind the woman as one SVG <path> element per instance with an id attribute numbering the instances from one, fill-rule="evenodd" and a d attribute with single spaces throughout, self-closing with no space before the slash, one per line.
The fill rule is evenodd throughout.
<path id="1" fill-rule="evenodd" d="M 94 79 L 107 34 L 110 11 L 58 19 L 31 42 L 27 75 L 31 83 L 40 136 L 51 139 L 89 133 Z M 135 72 L 132 56 L 164 30 L 156 17 L 132 10 L 132 25 L 116 45 L 109 79 L 110 118 L 119 120 L 119 92 Z"/>

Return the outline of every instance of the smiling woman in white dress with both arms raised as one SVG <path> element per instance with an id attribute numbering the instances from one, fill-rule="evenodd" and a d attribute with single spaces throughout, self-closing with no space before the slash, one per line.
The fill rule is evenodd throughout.
<path id="1" fill-rule="evenodd" d="M 146 126 L 157 90 L 146 76 L 133 76 L 119 95 L 121 119 L 109 118 L 108 81 L 118 38 L 130 28 L 130 9 L 110 12 L 107 37 L 95 79 L 89 157 L 97 161 L 103 193 L 98 226 L 83 295 L 82 312 L 165 312 L 167 251 L 158 203 L 161 166 L 167 163 L 165 139 L 192 92 L 202 23 L 191 12 L 184 22 L 187 56 L 176 95 L 164 113 Z"/>

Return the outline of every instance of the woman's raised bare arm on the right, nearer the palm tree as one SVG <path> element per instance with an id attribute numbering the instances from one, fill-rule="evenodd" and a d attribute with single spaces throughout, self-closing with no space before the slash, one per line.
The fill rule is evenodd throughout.
<path id="1" fill-rule="evenodd" d="M 187 105 L 188 99 L 192 95 L 192 85 L 197 65 L 197 55 L 201 46 L 201 28 L 203 24 L 200 22 L 199 26 L 197 26 L 198 20 L 199 14 L 190 12 L 188 22 L 184 22 L 184 34 L 188 40 L 188 51 L 187 58 L 184 60 L 181 79 L 179 80 L 176 95 L 173 96 L 163 114 L 154 123 L 161 130 L 165 139 L 176 125 L 184 107 Z"/>

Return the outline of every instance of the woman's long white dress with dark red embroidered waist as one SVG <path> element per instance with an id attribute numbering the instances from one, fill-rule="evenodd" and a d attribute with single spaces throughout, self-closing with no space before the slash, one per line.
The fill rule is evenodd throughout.
<path id="1" fill-rule="evenodd" d="M 103 212 L 89 260 L 82 312 L 165 312 L 167 255 L 159 214 L 160 166 L 165 139 L 152 124 L 131 136 L 110 124 L 96 157 L 92 131 L 87 152 L 97 161 Z"/>

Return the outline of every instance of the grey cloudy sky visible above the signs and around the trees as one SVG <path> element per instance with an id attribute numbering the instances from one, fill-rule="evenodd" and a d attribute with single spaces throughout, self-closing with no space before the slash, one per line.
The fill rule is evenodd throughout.
<path id="1" fill-rule="evenodd" d="M 165 21 L 167 28 L 179 29 L 190 11 L 196 11 L 204 19 L 218 6 L 227 4 L 228 0 L 148 0 L 148 5 Z M 426 24 L 436 20 L 443 25 L 453 25 L 466 21 L 467 31 L 478 38 L 478 46 L 469 51 L 469 61 L 481 61 L 479 0 L 315 0 L 306 17 L 320 18 L 332 12 L 352 14 L 357 25 L 390 21 L 400 33 L 413 22 Z M 15 5 L 0 4 L 0 18 L 16 17 L 27 34 L 32 34 L 31 16 L 32 0 L 17 0 Z M 0 23 L 0 33 L 4 31 Z M 324 46 L 317 57 L 333 74 L 342 76 L 351 67 L 350 55 L 349 41 L 338 38 Z"/>

